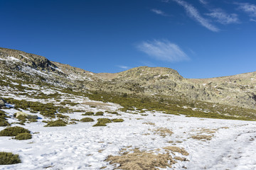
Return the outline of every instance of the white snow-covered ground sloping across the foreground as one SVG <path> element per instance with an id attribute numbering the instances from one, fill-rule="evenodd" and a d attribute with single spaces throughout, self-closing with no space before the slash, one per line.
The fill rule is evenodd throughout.
<path id="1" fill-rule="evenodd" d="M 32 86 L 29 86 L 32 88 Z M 79 103 L 70 108 L 86 111 L 118 111 L 114 103 L 90 101 L 82 96 L 63 94 L 58 89 L 45 89 L 33 86 L 33 90 L 44 94 L 61 94 L 64 100 Z M 54 99 L 33 99 L 29 96 L 16 96 L 9 88 L 0 89 L 1 96 L 18 100 L 54 102 Z M 57 102 L 56 102 L 57 103 Z M 90 104 L 99 105 L 91 107 Z M 1 109 L 17 122 L 14 113 L 18 110 Z M 24 111 L 29 113 L 29 111 Z M 70 119 L 90 117 L 92 123 L 67 125 L 65 127 L 44 127 L 46 123 L 40 113 L 36 123 L 19 125 L 31 130 L 31 140 L 13 140 L 0 137 L 0 152 L 19 154 L 21 164 L 0 165 L 0 169 L 114 169 L 114 164 L 105 161 L 110 155 L 122 155 L 122 151 L 132 153 L 133 149 L 154 154 L 166 153 L 164 147 L 179 147 L 188 152 L 169 152 L 171 157 L 183 157 L 188 161 L 176 160 L 166 169 L 256 169 L 256 122 L 242 120 L 218 120 L 208 118 L 188 118 L 183 115 L 167 115 L 146 111 L 139 113 L 118 111 L 119 115 L 105 112 L 103 116 L 85 116 L 81 112 L 65 113 Z M 34 113 L 31 113 L 34 114 Z M 92 127 L 97 118 L 122 118 L 122 123 L 108 123 L 105 127 Z M 15 126 L 14 124 L 12 126 Z M 4 127 L 0 127 L 3 130 Z M 168 133 L 166 130 L 170 130 Z M 200 138 L 201 137 L 201 138 Z"/>

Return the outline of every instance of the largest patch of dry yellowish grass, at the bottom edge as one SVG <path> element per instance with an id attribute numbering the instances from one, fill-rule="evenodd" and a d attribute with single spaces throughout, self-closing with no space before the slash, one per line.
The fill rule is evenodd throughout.
<path id="1" fill-rule="evenodd" d="M 171 168 L 171 164 L 176 161 L 171 158 L 169 153 L 153 154 L 149 152 L 141 152 L 134 149 L 133 153 L 122 154 L 120 156 L 109 156 L 106 161 L 110 164 L 119 164 L 118 169 L 136 169 L 136 170 L 156 170 L 159 168 Z"/>

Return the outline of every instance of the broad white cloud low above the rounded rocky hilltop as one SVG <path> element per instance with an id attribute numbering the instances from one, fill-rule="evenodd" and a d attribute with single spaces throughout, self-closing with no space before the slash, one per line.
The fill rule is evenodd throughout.
<path id="1" fill-rule="evenodd" d="M 137 45 L 137 48 L 145 52 L 147 55 L 154 57 L 156 60 L 166 62 L 181 62 L 189 60 L 185 52 L 178 45 L 169 42 L 168 40 L 153 40 L 142 42 Z"/>

